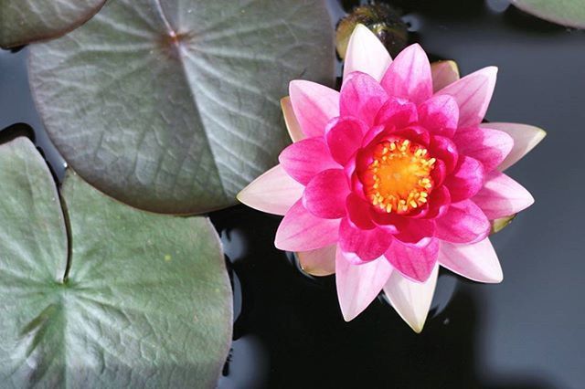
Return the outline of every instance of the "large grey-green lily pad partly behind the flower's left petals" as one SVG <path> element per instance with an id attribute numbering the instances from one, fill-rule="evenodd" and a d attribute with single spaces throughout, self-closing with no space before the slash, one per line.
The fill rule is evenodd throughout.
<path id="1" fill-rule="evenodd" d="M 291 79 L 330 84 L 323 0 L 115 0 L 30 50 L 50 137 L 123 202 L 191 214 L 235 204 L 288 142 Z"/>

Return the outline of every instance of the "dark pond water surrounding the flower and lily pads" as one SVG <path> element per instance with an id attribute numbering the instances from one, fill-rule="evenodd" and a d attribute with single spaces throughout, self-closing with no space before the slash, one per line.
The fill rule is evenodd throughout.
<path id="1" fill-rule="evenodd" d="M 304 276 L 272 246 L 279 217 L 242 206 L 214 213 L 237 317 L 219 387 L 585 387 L 585 33 L 505 0 L 395 4 L 411 40 L 433 58 L 456 59 L 463 74 L 500 68 L 489 120 L 548 130 L 510 170 L 537 204 L 494 237 L 505 281 L 481 285 L 442 273 L 420 335 L 382 300 L 346 323 L 335 280 Z M 331 5 L 339 15 L 340 5 Z M 59 177 L 63 162 L 33 106 L 26 57 L 26 48 L 0 52 L 0 142 L 34 134 Z"/>

